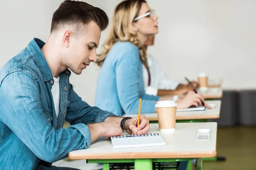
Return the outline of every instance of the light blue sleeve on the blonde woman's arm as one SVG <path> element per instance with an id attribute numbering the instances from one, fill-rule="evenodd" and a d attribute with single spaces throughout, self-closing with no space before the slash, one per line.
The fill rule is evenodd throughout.
<path id="1" fill-rule="evenodd" d="M 159 96 L 146 95 L 144 89 L 143 96 L 139 96 L 139 82 L 143 79 L 139 79 L 141 63 L 138 48 L 129 45 L 121 55 L 116 62 L 116 86 L 122 109 L 126 114 L 138 113 L 141 97 L 141 112 L 154 113 L 154 105 Z"/>

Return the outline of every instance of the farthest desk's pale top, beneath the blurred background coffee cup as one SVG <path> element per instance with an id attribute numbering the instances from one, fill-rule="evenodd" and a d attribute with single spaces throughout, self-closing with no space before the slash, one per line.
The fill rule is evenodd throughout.
<path id="1" fill-rule="evenodd" d="M 198 89 L 198 92 L 204 96 L 204 99 L 221 99 L 222 88 L 207 88 L 206 90 Z"/>

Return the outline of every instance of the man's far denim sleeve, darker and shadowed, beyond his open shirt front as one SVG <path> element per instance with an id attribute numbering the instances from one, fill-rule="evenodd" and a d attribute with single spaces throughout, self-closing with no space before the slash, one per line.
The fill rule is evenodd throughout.
<path id="1" fill-rule="evenodd" d="M 99 123 L 104 122 L 108 116 L 115 116 L 113 113 L 88 105 L 76 94 L 71 84 L 69 93 L 70 103 L 67 107 L 66 120 L 70 125 L 78 123 L 84 123 L 86 125 L 89 123 Z"/>

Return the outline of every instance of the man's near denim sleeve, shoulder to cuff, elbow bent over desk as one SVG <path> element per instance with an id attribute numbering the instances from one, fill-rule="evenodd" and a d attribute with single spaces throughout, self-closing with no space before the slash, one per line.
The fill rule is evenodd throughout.
<path id="1" fill-rule="evenodd" d="M 58 161 L 70 151 L 89 147 L 87 125 L 58 130 L 51 125 L 41 108 L 39 83 L 37 77 L 25 71 L 7 75 L 0 85 L 0 120 L 44 161 Z"/>

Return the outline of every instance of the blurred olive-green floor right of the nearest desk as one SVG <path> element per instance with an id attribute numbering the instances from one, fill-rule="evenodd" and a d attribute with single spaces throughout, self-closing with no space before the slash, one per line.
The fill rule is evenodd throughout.
<path id="1" fill-rule="evenodd" d="M 203 169 L 256 170 L 256 127 L 218 127 L 217 156 L 227 160 L 204 161 Z"/>

